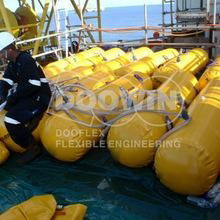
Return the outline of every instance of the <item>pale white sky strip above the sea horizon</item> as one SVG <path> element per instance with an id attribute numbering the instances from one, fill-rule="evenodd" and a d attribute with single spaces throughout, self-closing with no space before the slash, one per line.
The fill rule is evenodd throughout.
<path id="1" fill-rule="evenodd" d="M 35 0 L 37 2 L 37 0 Z M 52 0 L 51 0 L 52 1 Z M 79 0 L 75 0 L 79 3 Z M 83 4 L 85 0 L 81 0 L 81 4 Z M 6 7 L 15 11 L 18 7 L 17 0 L 4 0 Z M 27 0 L 27 2 L 31 2 L 31 0 Z M 41 0 L 42 3 L 45 0 Z M 161 4 L 162 0 L 101 0 L 101 6 L 104 8 L 107 7 L 121 7 L 121 6 L 132 6 L 132 5 L 144 5 L 144 4 Z M 89 7 L 95 7 L 96 0 L 89 0 Z M 64 5 L 68 8 L 72 8 L 70 0 L 58 0 L 59 8 L 63 8 Z M 41 11 L 41 7 L 37 4 L 37 11 Z"/>

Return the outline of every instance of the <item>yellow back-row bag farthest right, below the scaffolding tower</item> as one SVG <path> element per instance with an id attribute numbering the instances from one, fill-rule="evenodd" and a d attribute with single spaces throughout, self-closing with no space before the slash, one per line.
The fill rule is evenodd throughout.
<path id="1" fill-rule="evenodd" d="M 183 71 L 184 73 L 197 74 L 205 68 L 209 57 L 205 50 L 196 48 L 169 61 L 153 74 L 154 88 L 158 88 L 173 73 Z"/>

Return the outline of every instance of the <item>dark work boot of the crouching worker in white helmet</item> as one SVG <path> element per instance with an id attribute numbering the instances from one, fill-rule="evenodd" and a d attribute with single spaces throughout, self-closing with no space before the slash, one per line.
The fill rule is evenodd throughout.
<path id="1" fill-rule="evenodd" d="M 30 146 L 26 149 L 26 151 L 21 155 L 21 158 L 17 160 L 19 164 L 25 164 L 33 161 L 41 154 L 41 146 L 33 141 Z"/>

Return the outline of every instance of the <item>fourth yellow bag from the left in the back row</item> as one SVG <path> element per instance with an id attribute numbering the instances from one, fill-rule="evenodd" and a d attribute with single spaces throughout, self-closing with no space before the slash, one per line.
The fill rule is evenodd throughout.
<path id="1" fill-rule="evenodd" d="M 155 67 L 158 67 L 161 64 L 163 64 L 165 61 L 174 58 L 175 56 L 178 56 L 178 51 L 175 49 L 162 50 L 154 54 L 151 54 L 148 57 L 142 58 L 137 62 L 131 63 L 130 65 L 122 67 L 121 69 L 117 70 L 115 74 L 117 76 L 124 76 L 132 72 L 140 72 L 140 73 L 149 72 L 152 69 L 155 69 Z M 156 59 L 156 57 L 160 57 L 160 58 Z M 151 63 L 151 65 L 149 65 L 149 63 Z"/>

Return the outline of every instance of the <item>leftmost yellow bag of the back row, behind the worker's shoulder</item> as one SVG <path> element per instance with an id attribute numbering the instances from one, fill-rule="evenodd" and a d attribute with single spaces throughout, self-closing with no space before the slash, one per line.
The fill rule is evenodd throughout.
<path id="1" fill-rule="evenodd" d="M 77 64 L 81 60 L 89 59 L 94 56 L 99 56 L 99 55 L 101 56 L 101 54 L 103 53 L 104 53 L 103 49 L 99 47 L 95 47 L 90 50 L 71 55 L 68 59 L 66 58 L 50 63 L 46 67 L 44 67 L 44 72 L 48 78 L 52 76 L 56 76 L 62 72 L 65 72 L 67 69 L 68 70 L 70 68 L 74 69 L 75 64 Z"/>

